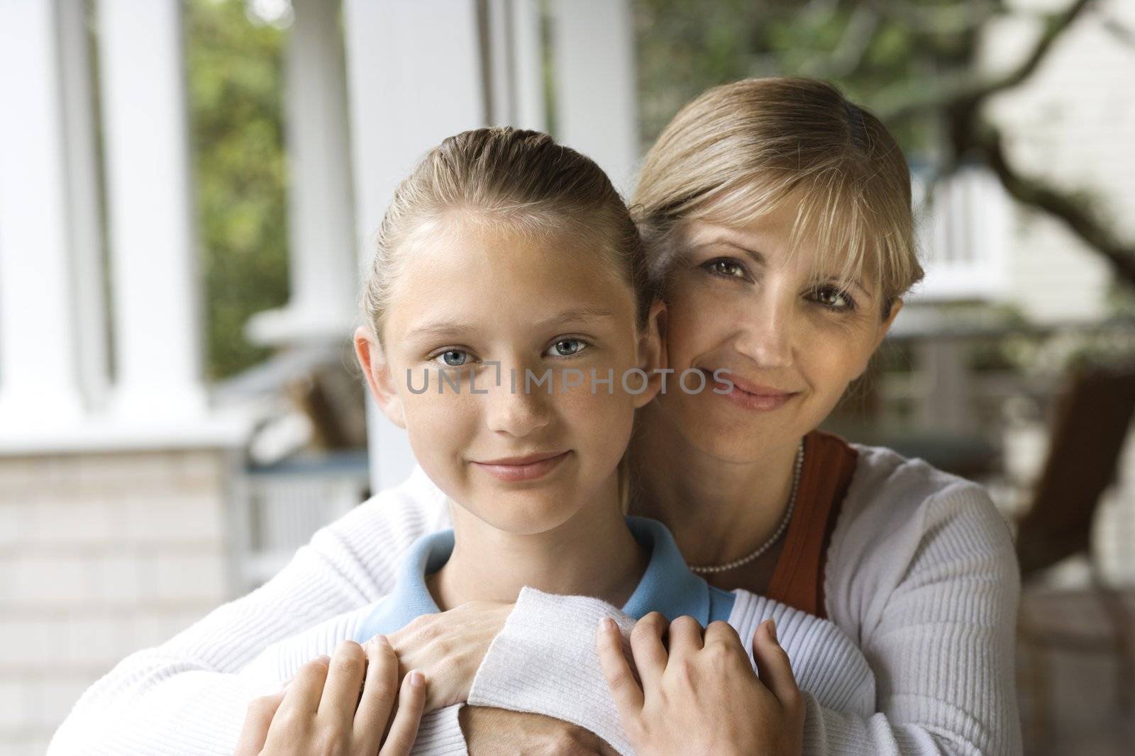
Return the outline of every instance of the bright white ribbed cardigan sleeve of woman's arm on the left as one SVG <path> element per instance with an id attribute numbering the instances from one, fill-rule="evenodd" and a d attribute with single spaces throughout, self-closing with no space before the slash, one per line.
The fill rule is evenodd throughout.
<path id="1" fill-rule="evenodd" d="M 49 756 L 232 754 L 249 702 L 277 689 L 237 672 L 268 645 L 386 594 L 410 544 L 446 517 L 444 495 L 415 469 L 321 528 L 257 591 L 119 662 L 72 708 Z"/>

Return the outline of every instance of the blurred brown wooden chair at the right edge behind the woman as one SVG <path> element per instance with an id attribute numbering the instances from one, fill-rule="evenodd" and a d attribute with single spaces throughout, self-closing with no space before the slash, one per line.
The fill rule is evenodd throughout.
<path id="1" fill-rule="evenodd" d="M 1116 666 L 1117 721 L 1135 708 L 1135 640 L 1130 593 L 1103 584 L 1091 559 L 1092 525 L 1115 481 L 1135 414 L 1135 368 L 1090 369 L 1073 375 L 1057 406 L 1056 423 L 1033 506 L 1017 529 L 1017 557 L 1026 584 L 1018 621 L 1022 704 L 1029 753 L 1056 753 L 1061 715 L 1054 698 L 1057 654 L 1105 655 Z M 1133 544 L 1135 546 L 1135 544 Z M 1029 584 L 1046 568 L 1086 553 L 1093 586 L 1043 594 Z M 1085 603 L 1086 602 L 1086 603 Z"/>

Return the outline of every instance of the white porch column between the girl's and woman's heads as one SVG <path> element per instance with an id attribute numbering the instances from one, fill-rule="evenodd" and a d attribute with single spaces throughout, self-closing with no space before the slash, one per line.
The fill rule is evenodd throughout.
<path id="1" fill-rule="evenodd" d="M 552 0 L 556 138 L 629 193 L 639 160 L 630 0 Z"/>

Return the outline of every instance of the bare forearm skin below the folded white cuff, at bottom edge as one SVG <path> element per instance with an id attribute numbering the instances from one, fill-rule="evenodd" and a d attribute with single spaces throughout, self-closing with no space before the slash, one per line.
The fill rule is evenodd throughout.
<path id="1" fill-rule="evenodd" d="M 619 756 L 590 730 L 553 716 L 463 706 L 459 714 L 470 756 L 479 754 L 585 754 Z"/>

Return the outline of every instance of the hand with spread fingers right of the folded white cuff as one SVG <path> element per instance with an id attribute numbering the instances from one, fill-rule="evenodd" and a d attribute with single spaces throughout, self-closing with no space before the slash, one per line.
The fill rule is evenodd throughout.
<path id="1" fill-rule="evenodd" d="M 788 754 L 804 742 L 804 697 L 772 620 L 753 636 L 760 678 L 728 622 L 701 632 L 692 617 L 669 627 L 647 614 L 631 631 L 641 686 L 623 655 L 622 634 L 609 619 L 597 638 L 599 662 L 638 754 Z"/>

